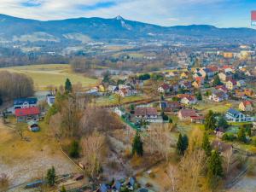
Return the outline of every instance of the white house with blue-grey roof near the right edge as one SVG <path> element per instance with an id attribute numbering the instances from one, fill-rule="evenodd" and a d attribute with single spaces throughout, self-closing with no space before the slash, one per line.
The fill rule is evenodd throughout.
<path id="1" fill-rule="evenodd" d="M 252 117 L 246 116 L 245 114 L 237 111 L 234 108 L 230 108 L 227 113 L 225 114 L 225 117 L 230 122 L 247 122 L 247 121 L 253 121 Z"/>

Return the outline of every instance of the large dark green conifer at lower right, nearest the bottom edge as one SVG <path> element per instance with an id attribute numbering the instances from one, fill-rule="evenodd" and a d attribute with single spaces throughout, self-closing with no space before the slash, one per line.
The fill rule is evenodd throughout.
<path id="1" fill-rule="evenodd" d="M 215 189 L 221 177 L 223 177 L 222 160 L 218 151 L 214 150 L 207 164 L 207 183 L 209 188 Z"/>

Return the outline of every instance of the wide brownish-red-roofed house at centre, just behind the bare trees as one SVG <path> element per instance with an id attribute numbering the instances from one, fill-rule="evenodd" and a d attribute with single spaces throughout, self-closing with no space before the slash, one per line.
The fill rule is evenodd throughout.
<path id="1" fill-rule="evenodd" d="M 157 119 L 157 110 L 155 108 L 137 107 L 135 108 L 134 115 L 137 119 L 154 121 L 155 119 Z"/>

